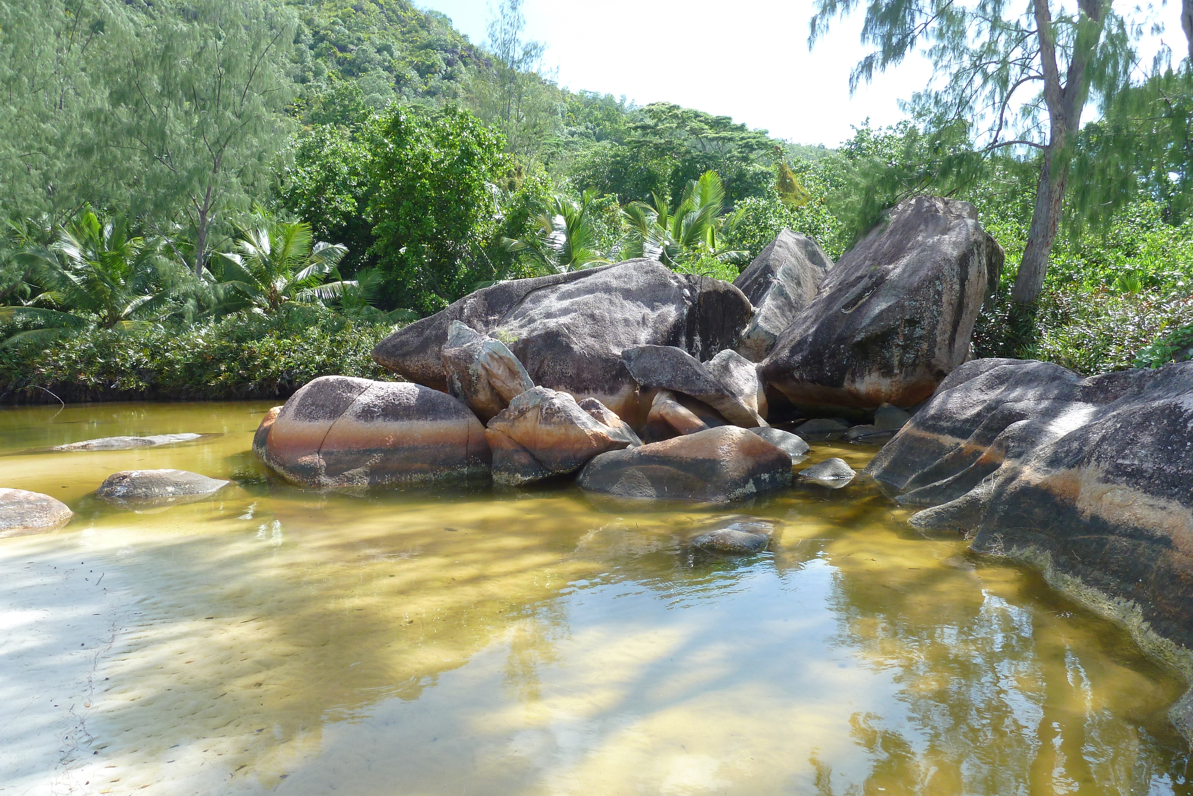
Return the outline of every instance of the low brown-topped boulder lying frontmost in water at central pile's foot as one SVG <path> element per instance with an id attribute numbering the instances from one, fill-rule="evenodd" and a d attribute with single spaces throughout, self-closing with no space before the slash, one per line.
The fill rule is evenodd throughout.
<path id="1" fill-rule="evenodd" d="M 744 428 L 722 426 L 601 453 L 580 487 L 618 498 L 727 502 L 791 483 L 791 456 Z"/>

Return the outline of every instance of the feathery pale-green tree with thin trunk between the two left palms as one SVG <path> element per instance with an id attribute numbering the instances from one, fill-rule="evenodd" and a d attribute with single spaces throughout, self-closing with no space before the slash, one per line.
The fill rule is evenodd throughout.
<path id="1" fill-rule="evenodd" d="M 267 0 L 196 0 L 147 17 L 111 81 L 105 152 L 122 165 L 134 159 L 134 215 L 160 233 L 185 220 L 199 276 L 220 217 L 248 208 L 286 140 L 295 21 Z"/>

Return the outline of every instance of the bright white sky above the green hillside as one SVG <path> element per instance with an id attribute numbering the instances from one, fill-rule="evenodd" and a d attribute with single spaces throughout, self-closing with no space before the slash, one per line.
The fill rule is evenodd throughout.
<path id="1" fill-rule="evenodd" d="M 487 0 L 415 1 L 484 42 Z M 926 61 L 909 58 L 849 97 L 849 70 L 866 53 L 860 16 L 837 20 L 809 53 L 811 0 L 728 7 L 734 11 L 727 13 L 723 0 L 526 0 L 524 13 L 527 38 L 546 43 L 546 64 L 561 86 L 731 116 L 798 143 L 835 147 L 867 116 L 876 127 L 894 124 L 903 118 L 898 100 L 931 76 Z M 1179 13 L 1179 0 L 1160 12 L 1162 38 L 1177 56 L 1186 48 Z M 1154 53 L 1157 43 L 1143 49 Z M 713 57 L 725 66 L 709 66 Z"/>

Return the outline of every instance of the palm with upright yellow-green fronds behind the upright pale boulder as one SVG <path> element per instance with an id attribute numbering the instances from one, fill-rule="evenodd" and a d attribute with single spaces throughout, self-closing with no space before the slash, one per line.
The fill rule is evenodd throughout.
<path id="1" fill-rule="evenodd" d="M 724 204 L 725 189 L 713 171 L 688 180 L 674 212 L 657 193 L 651 203 L 631 202 L 623 210 L 630 223 L 630 240 L 623 254 L 659 260 L 678 270 L 687 270 L 707 258 L 721 263 L 743 259 L 746 252 L 725 246 L 740 214 L 722 216 Z"/>

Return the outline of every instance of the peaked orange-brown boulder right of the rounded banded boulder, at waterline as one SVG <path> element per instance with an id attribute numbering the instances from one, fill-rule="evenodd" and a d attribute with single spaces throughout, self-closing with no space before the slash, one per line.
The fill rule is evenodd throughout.
<path id="1" fill-rule="evenodd" d="M 568 393 L 545 387 L 511 401 L 489 420 L 486 437 L 493 449 L 493 480 L 511 486 L 574 473 L 594 456 L 637 440 L 594 418 Z"/>

